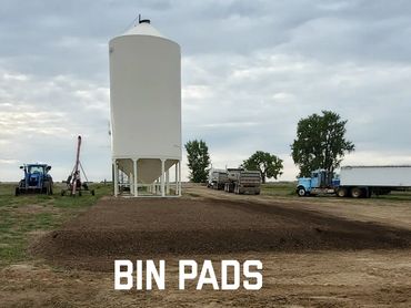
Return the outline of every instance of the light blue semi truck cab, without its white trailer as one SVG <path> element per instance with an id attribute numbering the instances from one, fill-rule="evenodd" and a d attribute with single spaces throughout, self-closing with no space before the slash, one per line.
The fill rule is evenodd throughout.
<path id="1" fill-rule="evenodd" d="M 297 194 L 300 197 L 320 194 L 334 194 L 340 186 L 340 179 L 325 170 L 317 170 L 311 177 L 300 177 L 297 184 Z"/>

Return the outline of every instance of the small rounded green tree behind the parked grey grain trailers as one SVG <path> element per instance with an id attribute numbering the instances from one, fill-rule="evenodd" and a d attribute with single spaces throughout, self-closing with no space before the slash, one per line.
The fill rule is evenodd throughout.
<path id="1" fill-rule="evenodd" d="M 282 174 L 282 160 L 262 151 L 257 151 L 241 166 L 245 170 L 259 171 L 262 183 L 265 183 L 265 178 L 270 177 L 277 179 Z"/>

